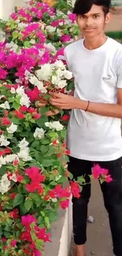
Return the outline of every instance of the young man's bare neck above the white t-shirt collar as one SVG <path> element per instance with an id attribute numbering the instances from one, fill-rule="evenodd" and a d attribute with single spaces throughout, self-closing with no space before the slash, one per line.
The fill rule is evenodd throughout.
<path id="1" fill-rule="evenodd" d="M 95 37 L 94 39 L 85 39 L 84 40 L 84 46 L 88 50 L 94 50 L 97 49 L 98 47 L 102 46 L 107 40 L 107 36 L 104 34 L 102 36 Z"/>

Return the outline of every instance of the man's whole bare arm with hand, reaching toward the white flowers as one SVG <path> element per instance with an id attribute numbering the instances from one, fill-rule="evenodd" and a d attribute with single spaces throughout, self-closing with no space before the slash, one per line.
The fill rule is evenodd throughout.
<path id="1" fill-rule="evenodd" d="M 71 95 L 51 94 L 50 103 L 60 109 L 83 109 L 88 106 L 87 101 L 75 98 Z M 87 112 L 98 114 L 105 117 L 122 118 L 122 88 L 117 89 L 117 103 L 98 103 L 90 102 Z"/>

